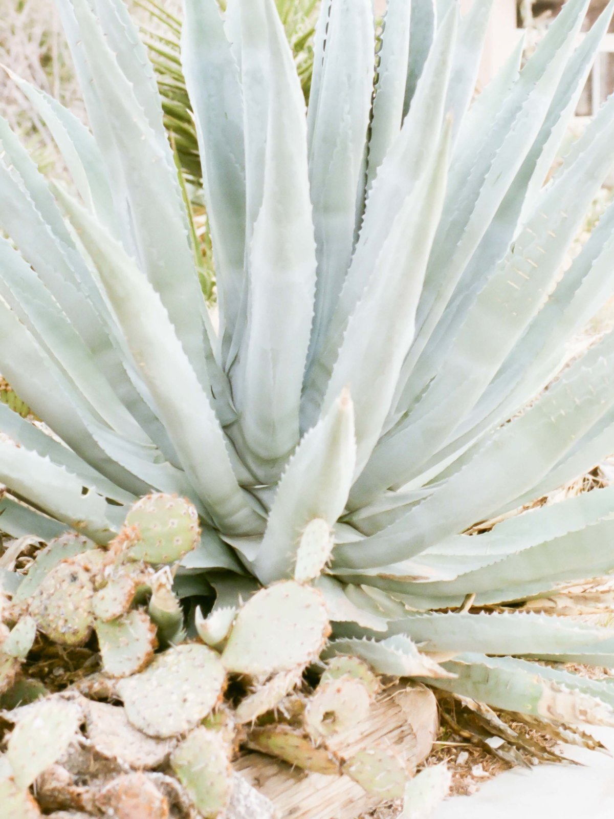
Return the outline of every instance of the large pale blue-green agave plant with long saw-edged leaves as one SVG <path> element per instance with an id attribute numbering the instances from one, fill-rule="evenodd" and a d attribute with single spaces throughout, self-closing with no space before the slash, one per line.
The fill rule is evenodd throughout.
<path id="1" fill-rule="evenodd" d="M 535 399 L 614 285 L 612 207 L 560 273 L 614 99 L 543 185 L 614 2 L 576 48 L 589 0 L 569 0 L 472 102 L 489 0 L 389 0 L 377 70 L 370 0 L 327 0 L 305 116 L 273 0 L 187 0 L 216 326 L 145 47 L 120 0 L 57 6 L 92 131 L 15 80 L 79 197 L 0 124 L 0 370 L 53 432 L 0 405 L 2 528 L 103 545 L 176 493 L 203 532 L 181 595 L 295 577 L 328 654 L 612 721 L 607 681 L 534 662 L 612 667 L 612 629 L 516 609 L 614 569 L 614 489 L 464 532 L 614 450 L 612 334 Z"/>

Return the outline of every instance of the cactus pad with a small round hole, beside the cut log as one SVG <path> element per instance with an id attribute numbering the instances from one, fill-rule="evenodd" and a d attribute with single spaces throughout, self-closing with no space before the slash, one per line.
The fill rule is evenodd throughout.
<path id="1" fill-rule="evenodd" d="M 314 739 L 347 731 L 367 716 L 371 696 L 350 676 L 320 682 L 305 708 L 305 730 Z"/>

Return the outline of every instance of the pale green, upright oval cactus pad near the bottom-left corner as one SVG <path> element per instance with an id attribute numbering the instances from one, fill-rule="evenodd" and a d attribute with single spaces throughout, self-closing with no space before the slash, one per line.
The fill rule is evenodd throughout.
<path id="1" fill-rule="evenodd" d="M 65 753 L 79 731 L 82 716 L 79 705 L 60 697 L 41 699 L 23 708 L 7 745 L 16 785 L 28 788 Z"/>

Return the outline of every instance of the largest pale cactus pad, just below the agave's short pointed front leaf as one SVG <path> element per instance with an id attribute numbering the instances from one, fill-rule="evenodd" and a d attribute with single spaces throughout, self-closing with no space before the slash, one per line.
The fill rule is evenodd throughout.
<path id="1" fill-rule="evenodd" d="M 330 633 L 322 595 L 296 581 L 257 592 L 240 609 L 222 660 L 229 671 L 251 676 L 305 667 Z"/>

